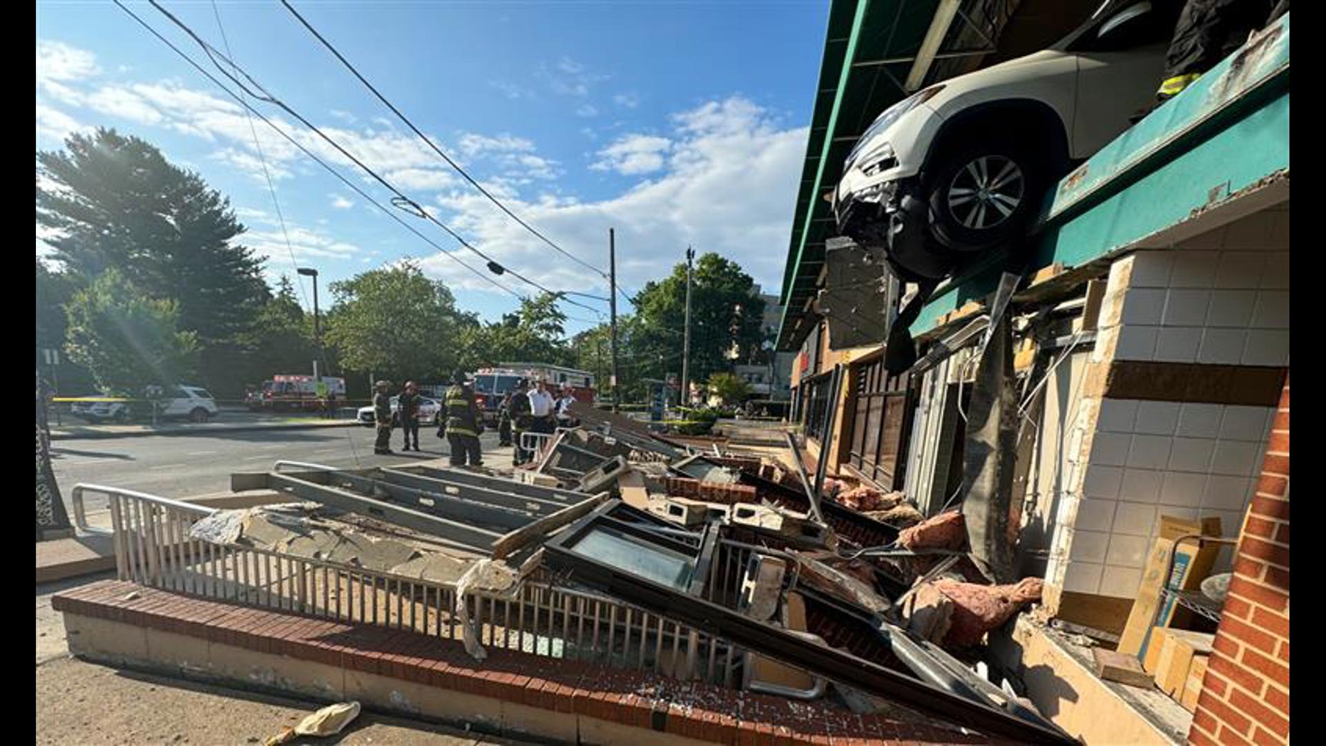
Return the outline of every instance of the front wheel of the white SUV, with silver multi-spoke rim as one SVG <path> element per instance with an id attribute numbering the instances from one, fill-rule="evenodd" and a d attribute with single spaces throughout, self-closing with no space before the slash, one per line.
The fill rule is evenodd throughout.
<path id="1" fill-rule="evenodd" d="M 926 179 L 935 239 L 953 251 L 984 251 L 1014 239 L 1045 187 L 1042 161 L 1013 141 L 953 149 Z"/>

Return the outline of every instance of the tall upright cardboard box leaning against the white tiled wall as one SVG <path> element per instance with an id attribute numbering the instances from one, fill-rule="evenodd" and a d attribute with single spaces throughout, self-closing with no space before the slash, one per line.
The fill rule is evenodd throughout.
<path id="1" fill-rule="evenodd" d="M 1132 601 L 1128 612 L 1128 621 L 1119 636 L 1120 653 L 1138 656 L 1146 661 L 1146 652 L 1152 633 L 1156 628 L 1170 627 L 1174 621 L 1184 621 L 1187 612 L 1179 613 L 1174 599 L 1162 603 L 1160 589 L 1166 585 L 1164 571 L 1174 550 L 1174 571 L 1168 585 L 1192 591 L 1211 575 L 1211 567 L 1216 561 L 1220 546 L 1208 543 L 1201 547 L 1195 540 L 1188 540 L 1175 548 L 1175 540 L 1187 535 L 1220 536 L 1220 519 L 1216 516 L 1189 520 L 1160 516 L 1160 536 L 1151 546 L 1147 564 L 1142 571 L 1142 583 L 1138 587 L 1138 596 Z"/>

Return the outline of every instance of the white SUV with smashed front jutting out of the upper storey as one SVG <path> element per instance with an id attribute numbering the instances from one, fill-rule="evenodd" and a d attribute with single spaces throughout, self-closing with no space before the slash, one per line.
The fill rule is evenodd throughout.
<path id="1" fill-rule="evenodd" d="M 838 230 L 904 280 L 1008 242 L 1045 190 L 1154 101 L 1181 3 L 1107 0 L 1058 44 L 890 106 L 847 155 Z"/>

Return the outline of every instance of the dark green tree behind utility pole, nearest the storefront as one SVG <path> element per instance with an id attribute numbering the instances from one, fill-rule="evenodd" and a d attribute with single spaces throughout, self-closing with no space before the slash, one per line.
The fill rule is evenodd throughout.
<path id="1" fill-rule="evenodd" d="M 682 369 L 686 325 L 686 264 L 662 281 L 650 281 L 635 299 L 639 331 L 635 352 L 646 356 L 651 377 Z M 764 338 L 764 300 L 739 264 L 717 254 L 704 254 L 695 264 L 691 288 L 691 380 L 704 381 L 733 360 L 749 360 Z M 666 353 L 663 350 L 667 350 Z M 671 353 L 675 353 L 675 360 Z M 655 354 L 666 361 L 654 364 Z"/>

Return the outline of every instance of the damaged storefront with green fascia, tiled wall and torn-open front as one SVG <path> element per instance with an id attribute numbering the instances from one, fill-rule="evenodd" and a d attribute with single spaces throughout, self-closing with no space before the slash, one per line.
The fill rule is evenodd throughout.
<path id="1" fill-rule="evenodd" d="M 829 500 L 960 516 L 976 573 L 912 588 L 908 624 L 959 624 L 927 621 L 945 583 L 1033 601 L 972 660 L 1087 743 L 1288 742 L 1288 35 L 1253 33 L 941 281 L 793 234 L 806 467 Z M 834 109 L 861 105 L 850 78 Z M 809 419 L 838 378 L 837 422 Z"/>

